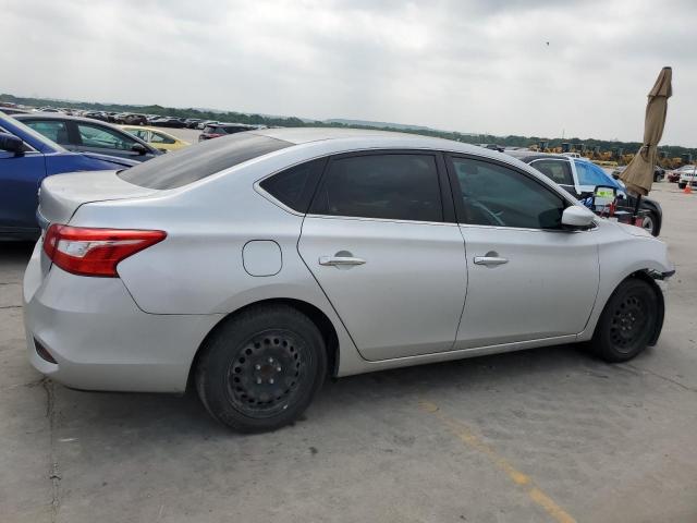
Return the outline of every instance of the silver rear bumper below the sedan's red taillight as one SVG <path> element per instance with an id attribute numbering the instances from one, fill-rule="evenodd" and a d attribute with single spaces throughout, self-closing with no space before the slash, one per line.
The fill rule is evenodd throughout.
<path id="1" fill-rule="evenodd" d="M 58 267 L 42 277 L 38 246 L 23 292 L 32 365 L 77 389 L 184 391 L 196 350 L 221 317 L 144 313 L 118 278 L 78 277 Z M 57 363 L 39 356 L 37 342 Z"/>

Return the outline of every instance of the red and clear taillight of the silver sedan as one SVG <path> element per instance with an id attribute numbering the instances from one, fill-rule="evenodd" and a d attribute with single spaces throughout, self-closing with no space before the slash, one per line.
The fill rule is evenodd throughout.
<path id="1" fill-rule="evenodd" d="M 54 223 L 44 240 L 44 251 L 61 269 L 80 276 L 115 278 L 119 262 L 161 242 L 164 231 L 90 229 Z"/>

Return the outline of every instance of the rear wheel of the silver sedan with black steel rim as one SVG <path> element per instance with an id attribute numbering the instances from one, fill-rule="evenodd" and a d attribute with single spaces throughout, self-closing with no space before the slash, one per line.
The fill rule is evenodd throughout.
<path id="1" fill-rule="evenodd" d="M 218 328 L 203 351 L 195 376 L 201 402 L 220 423 L 244 433 L 294 422 L 327 374 L 319 329 L 288 305 L 244 311 Z"/>

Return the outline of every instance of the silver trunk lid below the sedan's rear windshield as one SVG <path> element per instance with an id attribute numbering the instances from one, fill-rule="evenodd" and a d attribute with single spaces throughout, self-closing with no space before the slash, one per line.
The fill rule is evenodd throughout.
<path id="1" fill-rule="evenodd" d="M 139 198 L 157 194 L 117 175 L 118 171 L 82 171 L 44 179 L 37 218 L 45 231 L 50 223 L 68 223 L 77 208 L 90 202 Z"/>

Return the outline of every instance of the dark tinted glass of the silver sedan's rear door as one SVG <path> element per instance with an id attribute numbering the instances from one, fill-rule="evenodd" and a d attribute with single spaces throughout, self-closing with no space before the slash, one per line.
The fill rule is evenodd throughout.
<path id="1" fill-rule="evenodd" d="M 442 221 L 436 156 L 384 154 L 332 159 L 310 212 Z"/>

